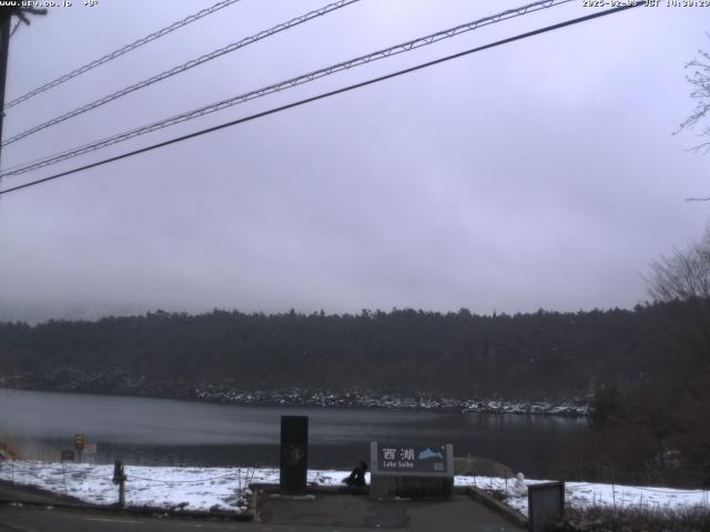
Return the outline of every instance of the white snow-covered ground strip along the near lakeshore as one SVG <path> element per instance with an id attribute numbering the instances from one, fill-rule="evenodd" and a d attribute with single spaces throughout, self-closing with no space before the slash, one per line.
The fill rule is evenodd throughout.
<path id="1" fill-rule="evenodd" d="M 277 469 L 245 468 L 178 468 L 125 466 L 125 499 L 131 507 L 183 507 L 191 511 L 219 509 L 244 511 L 240 494 L 251 482 L 278 483 Z M 308 482 L 337 485 L 345 471 L 312 470 Z M 68 494 L 91 504 L 113 504 L 118 487 L 112 482 L 113 466 L 90 463 L 58 463 L 38 461 L 0 462 L 0 480 L 36 485 L 55 493 Z M 369 482 L 369 478 L 367 479 Z M 542 482 L 526 480 L 527 484 Z M 510 492 L 510 479 L 489 477 L 456 477 L 456 485 L 476 485 L 484 490 Z M 670 488 L 630 487 L 567 482 L 566 499 L 574 507 L 609 505 L 669 509 L 710 505 L 708 491 L 674 490 Z M 508 495 L 506 502 L 527 514 L 527 497 Z"/>

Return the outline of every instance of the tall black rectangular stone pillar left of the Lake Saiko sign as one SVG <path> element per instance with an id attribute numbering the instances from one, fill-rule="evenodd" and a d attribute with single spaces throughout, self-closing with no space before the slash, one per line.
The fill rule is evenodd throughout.
<path id="1" fill-rule="evenodd" d="M 282 493 L 304 494 L 308 473 L 308 417 L 281 417 L 281 475 Z"/>

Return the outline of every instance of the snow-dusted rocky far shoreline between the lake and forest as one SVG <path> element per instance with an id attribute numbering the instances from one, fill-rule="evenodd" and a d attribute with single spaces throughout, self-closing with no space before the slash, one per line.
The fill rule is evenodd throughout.
<path id="1" fill-rule="evenodd" d="M 589 398 L 538 399 L 510 401 L 498 398 L 453 398 L 435 395 L 407 396 L 358 388 L 306 390 L 243 390 L 239 382 L 190 383 L 185 381 L 150 380 L 114 368 L 84 371 L 69 367 L 45 374 L 0 377 L 0 387 L 38 391 L 106 393 L 154 397 L 191 401 L 265 407 L 377 408 L 459 411 L 463 413 L 501 413 L 586 417 Z"/>

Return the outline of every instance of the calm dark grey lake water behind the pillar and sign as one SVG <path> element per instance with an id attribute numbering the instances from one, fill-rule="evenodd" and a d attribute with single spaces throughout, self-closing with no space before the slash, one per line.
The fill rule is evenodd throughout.
<path id="1" fill-rule="evenodd" d="M 548 477 L 587 420 L 414 410 L 272 408 L 170 399 L 0 390 L 0 440 L 26 458 L 57 460 L 83 433 L 97 462 L 278 466 L 281 416 L 310 417 L 308 466 L 348 469 L 372 440 L 453 443 L 454 454 L 489 458 Z"/>

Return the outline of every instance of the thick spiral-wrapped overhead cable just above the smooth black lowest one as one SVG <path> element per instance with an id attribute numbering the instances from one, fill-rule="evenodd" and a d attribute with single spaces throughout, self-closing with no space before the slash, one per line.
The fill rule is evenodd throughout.
<path id="1" fill-rule="evenodd" d="M 477 28 L 484 27 L 484 25 L 488 25 L 488 24 L 493 24 L 493 23 L 497 23 L 514 17 L 520 17 L 527 13 L 530 13 L 532 11 L 538 11 L 541 9 L 548 9 L 551 8 L 554 6 L 559 6 L 562 3 L 567 3 L 570 2 L 572 0 L 541 0 L 541 1 L 537 1 L 534 3 L 529 3 L 527 6 L 523 6 L 520 8 L 516 8 L 516 9 L 510 9 L 507 11 L 503 11 L 500 13 L 497 14 L 493 14 L 489 17 L 485 17 L 483 19 L 478 19 L 475 20 L 473 22 L 467 22 L 465 24 L 460 24 L 457 25 L 455 28 L 449 28 L 447 30 L 443 30 L 443 31 L 438 31 L 436 33 L 432 33 L 426 37 L 420 37 L 400 44 L 395 44 L 394 47 L 389 47 L 386 48 L 384 50 L 379 50 L 376 52 L 371 52 L 368 54 L 365 55 L 359 55 L 357 58 L 354 59 L 349 59 L 347 61 L 343 61 L 341 63 L 336 63 L 329 66 L 326 66 L 324 69 L 320 69 L 316 70 L 314 72 L 310 72 L 306 74 L 301 74 L 296 78 L 292 78 L 290 80 L 286 81 L 281 81 L 278 83 L 274 83 L 272 85 L 267 85 L 267 86 L 263 86 L 261 89 L 256 89 L 233 98 L 230 98 L 227 100 L 222 100 L 221 102 L 216 102 L 200 109 L 195 109 L 192 111 L 187 111 L 184 112 L 182 114 L 172 116 L 170 119 L 165 119 L 159 122 L 154 122 L 152 124 L 148 124 L 148 125 L 143 125 L 130 131 L 125 131 L 123 133 L 119 133 L 116 135 L 113 136 L 109 136 L 105 139 L 102 139 L 100 141 L 95 141 L 92 142 L 90 144 L 84 144 L 83 146 L 79 146 L 79 147 L 74 147 L 64 152 L 60 152 L 53 155 L 49 155 L 47 157 L 40 158 L 40 160 L 36 160 L 32 161 L 30 163 L 27 164 L 22 164 L 19 166 L 14 166 L 12 170 L 7 170 L 2 173 L 0 173 L 0 178 L 9 176 L 9 175 L 20 175 L 20 174 L 24 174 L 27 172 L 43 167 L 43 166 L 49 166 L 52 164 L 57 164 L 60 163 L 62 161 L 67 161 L 69 158 L 73 158 L 75 156 L 79 155 L 83 155 L 85 153 L 89 152 L 93 152 L 97 150 L 101 150 L 103 147 L 113 145 L 113 144 L 118 144 L 120 142 L 123 141 L 128 141 L 130 139 L 133 139 L 135 136 L 140 136 L 140 135 L 144 135 L 148 133 L 152 133 L 154 131 L 158 130 L 162 130 L 164 127 L 171 126 L 171 125 L 175 125 L 182 122 L 186 122 L 189 120 L 193 120 L 200 116 L 204 116 L 205 114 L 210 114 L 210 113 L 214 113 L 216 111 L 221 111 L 223 109 L 227 109 L 231 108 L 233 105 L 240 104 L 240 103 L 244 103 L 247 102 L 250 100 L 254 100 L 256 98 L 262 98 L 265 96 L 267 94 L 273 94 L 275 92 L 280 92 L 286 89 L 291 89 L 304 83 L 308 83 L 312 81 L 315 81 L 320 78 L 324 78 L 326 75 L 331 75 L 334 74 L 336 72 L 339 71 L 344 71 L 344 70 L 348 70 L 355 66 L 359 66 L 363 64 L 368 64 L 371 62 L 381 60 L 381 59 L 385 59 L 392 55 L 396 55 L 398 53 L 404 53 L 404 52 L 408 52 L 412 50 L 415 50 L 417 48 L 422 48 L 428 44 L 432 44 L 434 42 L 440 41 L 443 39 L 449 39 L 453 37 L 456 37 L 458 34 L 468 32 L 468 31 L 473 31 Z"/>

